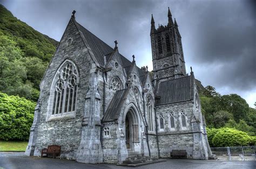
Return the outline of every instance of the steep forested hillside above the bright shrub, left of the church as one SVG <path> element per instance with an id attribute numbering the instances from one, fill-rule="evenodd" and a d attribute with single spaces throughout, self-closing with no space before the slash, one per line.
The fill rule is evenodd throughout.
<path id="1" fill-rule="evenodd" d="M 57 45 L 0 4 L 0 91 L 36 101 Z"/>

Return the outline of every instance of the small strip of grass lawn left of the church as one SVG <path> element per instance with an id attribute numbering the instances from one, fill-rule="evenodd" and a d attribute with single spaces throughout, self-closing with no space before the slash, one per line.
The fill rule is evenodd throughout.
<path id="1" fill-rule="evenodd" d="M 0 140 L 0 151 L 25 151 L 28 141 L 2 141 Z"/>

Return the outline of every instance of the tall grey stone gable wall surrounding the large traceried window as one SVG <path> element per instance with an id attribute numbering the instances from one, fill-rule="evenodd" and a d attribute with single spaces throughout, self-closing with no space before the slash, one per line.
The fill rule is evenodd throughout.
<path id="1" fill-rule="evenodd" d="M 69 39 L 71 39 L 71 43 L 69 43 Z M 76 64 L 80 75 L 75 117 L 48 121 L 47 117 L 51 115 L 51 111 L 49 110 L 52 106 L 50 99 L 53 97 L 51 93 L 51 82 L 58 67 L 65 59 L 70 59 Z M 39 113 L 34 156 L 39 156 L 42 148 L 57 144 L 62 146 L 60 156 L 71 159 L 76 158 L 76 151 L 82 132 L 81 124 L 84 112 L 84 96 L 88 89 L 90 65 L 88 52 L 82 43 L 79 32 L 75 24 L 70 21 L 41 83 L 41 95 L 39 99 L 42 100 L 42 105 L 41 112 Z"/>

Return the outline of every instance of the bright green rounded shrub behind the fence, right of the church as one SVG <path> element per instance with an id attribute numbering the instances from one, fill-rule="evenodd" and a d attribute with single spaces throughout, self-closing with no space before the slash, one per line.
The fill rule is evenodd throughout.
<path id="1" fill-rule="evenodd" d="M 252 138 L 247 133 L 227 127 L 218 129 L 212 138 L 212 144 L 215 147 L 246 146 L 251 143 Z"/>

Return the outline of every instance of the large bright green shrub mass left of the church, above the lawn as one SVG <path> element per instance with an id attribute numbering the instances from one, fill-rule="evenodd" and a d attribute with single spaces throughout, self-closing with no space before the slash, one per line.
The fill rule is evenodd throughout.
<path id="1" fill-rule="evenodd" d="M 0 92 L 0 139 L 28 140 L 36 103 Z"/>

